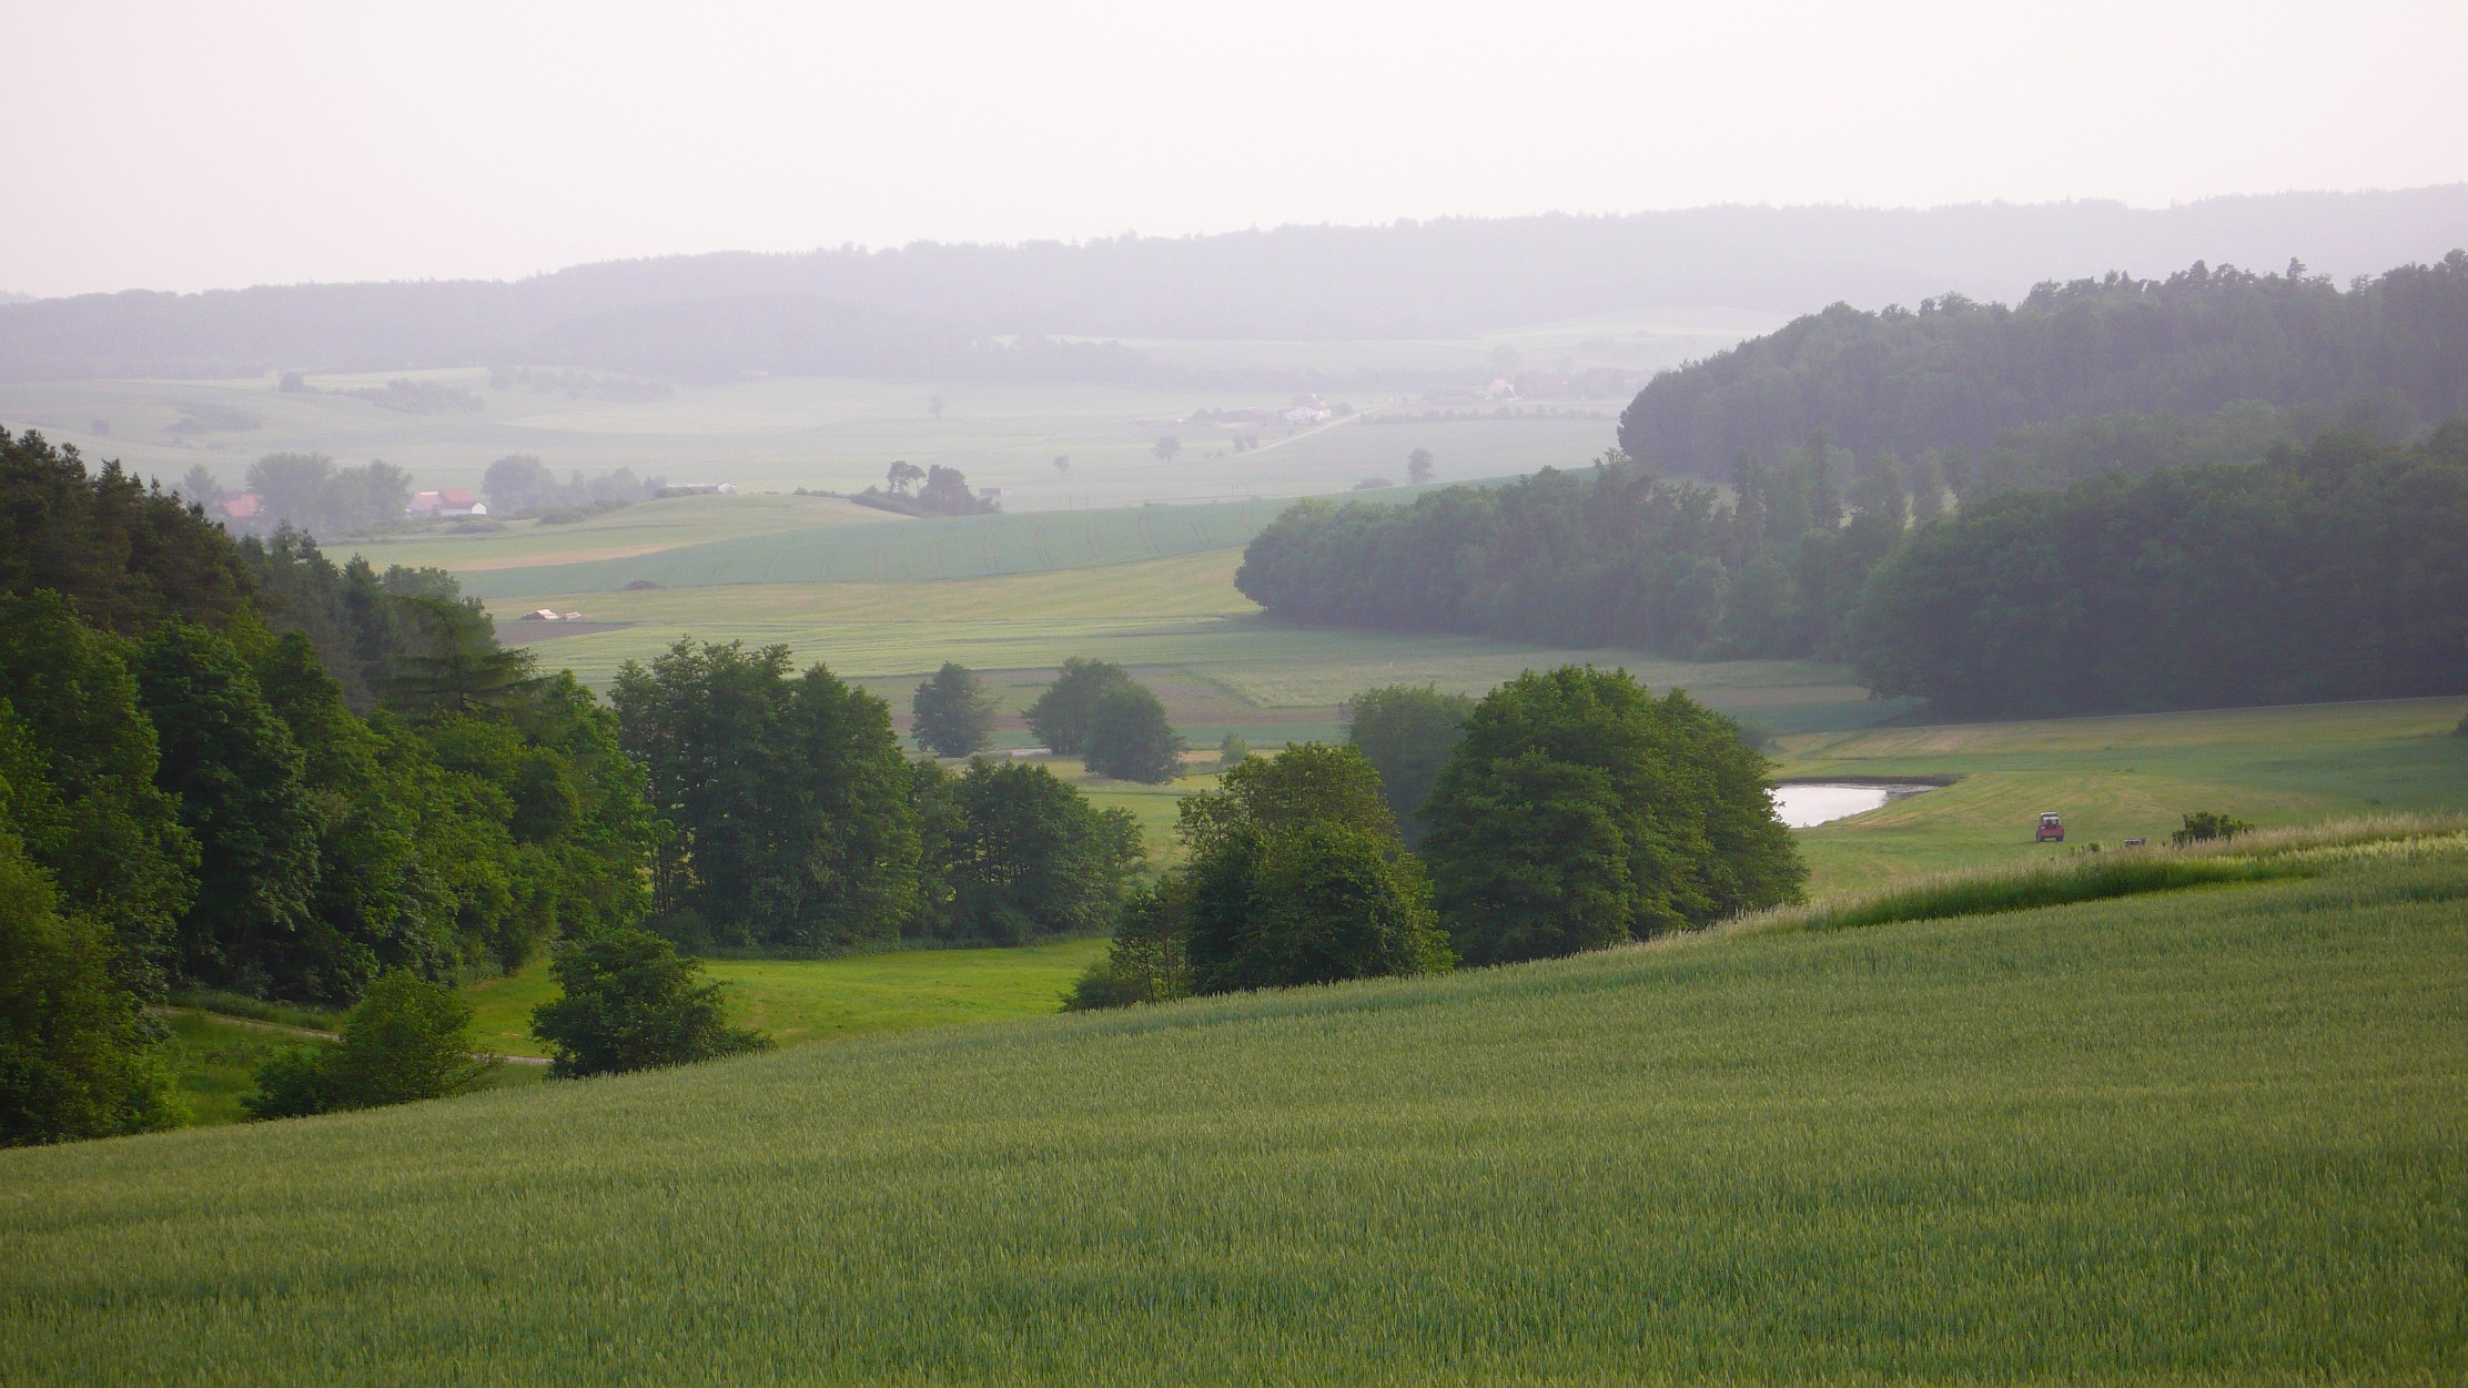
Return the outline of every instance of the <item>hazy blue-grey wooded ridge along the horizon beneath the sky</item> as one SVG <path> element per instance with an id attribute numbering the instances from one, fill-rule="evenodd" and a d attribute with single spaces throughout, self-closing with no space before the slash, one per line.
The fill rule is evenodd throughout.
<path id="1" fill-rule="evenodd" d="M 1658 306 L 1804 311 L 2019 296 L 2194 259 L 2332 274 L 2468 240 L 2468 185 L 1937 210 L 1700 207 L 1278 227 L 1088 245 L 703 254 L 516 284 L 311 284 L 0 304 L 0 380 L 543 363 L 666 375 L 1103 378 L 1069 336 L 1397 338 Z M 1027 336 L 1029 341 L 1012 341 Z"/>

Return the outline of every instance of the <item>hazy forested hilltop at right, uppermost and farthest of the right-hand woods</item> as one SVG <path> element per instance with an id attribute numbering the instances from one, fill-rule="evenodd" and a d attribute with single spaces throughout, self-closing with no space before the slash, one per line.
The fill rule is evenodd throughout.
<path id="1" fill-rule="evenodd" d="M 2298 262 L 2283 274 L 2197 262 L 2167 279 L 2048 282 L 2016 306 L 1836 304 L 1658 375 L 1621 415 L 1619 447 L 1723 477 L 1742 452 L 1774 457 L 1816 430 L 1910 457 L 1982 449 L 2021 425 L 2236 400 L 2347 405 L 2401 432 L 2468 410 L 2468 252 L 2350 289 Z"/>

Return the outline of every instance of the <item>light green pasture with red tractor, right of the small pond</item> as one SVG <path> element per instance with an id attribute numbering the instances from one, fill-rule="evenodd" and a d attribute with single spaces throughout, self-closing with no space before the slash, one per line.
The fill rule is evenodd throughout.
<path id="1" fill-rule="evenodd" d="M 2187 810 L 2256 825 L 2468 810 L 2468 699 L 2219 709 L 2024 724 L 1802 734 L 1782 776 L 1957 776 L 1955 785 L 1802 830 L 1812 892 L 2024 862 L 2127 837 L 2164 842 Z M 2034 845 L 2039 815 L 2063 845 Z"/>

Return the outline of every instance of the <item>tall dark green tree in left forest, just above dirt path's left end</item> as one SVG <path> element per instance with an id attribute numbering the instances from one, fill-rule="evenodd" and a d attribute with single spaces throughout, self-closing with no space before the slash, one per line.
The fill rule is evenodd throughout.
<path id="1" fill-rule="evenodd" d="M 333 995 L 350 961 L 316 916 L 318 820 L 291 731 L 232 642 L 193 622 L 155 630 L 136 677 L 160 738 L 155 785 L 200 847 L 183 973 L 242 993 Z"/>

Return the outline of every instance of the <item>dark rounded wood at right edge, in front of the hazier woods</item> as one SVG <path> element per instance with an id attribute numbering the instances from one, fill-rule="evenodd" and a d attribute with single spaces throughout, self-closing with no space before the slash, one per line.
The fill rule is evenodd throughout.
<path id="1" fill-rule="evenodd" d="M 2458 694 L 2468 420 L 1967 506 L 1878 566 L 1849 645 L 1952 714 Z"/>

